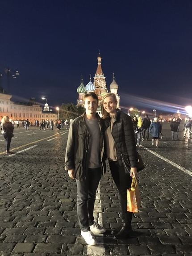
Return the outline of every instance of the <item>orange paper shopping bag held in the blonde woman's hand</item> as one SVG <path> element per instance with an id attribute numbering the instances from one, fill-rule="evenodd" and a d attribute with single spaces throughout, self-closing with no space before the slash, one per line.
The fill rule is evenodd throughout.
<path id="1" fill-rule="evenodd" d="M 141 196 L 137 179 L 133 178 L 130 189 L 127 189 L 127 211 L 138 213 L 141 206 Z"/>

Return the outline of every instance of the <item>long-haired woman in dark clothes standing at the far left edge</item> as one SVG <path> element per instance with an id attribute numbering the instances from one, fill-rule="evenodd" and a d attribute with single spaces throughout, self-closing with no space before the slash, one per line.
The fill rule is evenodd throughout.
<path id="1" fill-rule="evenodd" d="M 6 155 L 11 155 L 13 154 L 13 152 L 9 151 L 10 148 L 10 144 L 11 144 L 11 139 L 13 137 L 13 125 L 12 123 L 9 121 L 9 117 L 8 116 L 4 116 L 1 120 L 1 127 L 3 129 L 3 136 L 5 138 L 5 140 L 7 141 L 7 145 L 6 145 Z"/>

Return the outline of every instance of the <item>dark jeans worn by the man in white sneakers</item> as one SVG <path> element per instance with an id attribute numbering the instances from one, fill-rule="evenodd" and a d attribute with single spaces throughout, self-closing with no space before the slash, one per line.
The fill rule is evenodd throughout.
<path id="1" fill-rule="evenodd" d="M 83 232 L 90 231 L 93 224 L 93 209 L 95 204 L 96 190 L 101 179 L 101 168 L 88 169 L 86 180 L 77 183 L 77 215 L 79 227 Z"/>

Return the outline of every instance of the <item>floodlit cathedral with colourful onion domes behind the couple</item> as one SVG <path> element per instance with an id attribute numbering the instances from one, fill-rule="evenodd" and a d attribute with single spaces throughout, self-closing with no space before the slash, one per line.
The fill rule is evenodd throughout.
<path id="1" fill-rule="evenodd" d="M 106 93 L 108 93 L 108 89 L 106 87 L 106 82 L 105 82 L 105 77 L 104 77 L 104 73 L 102 71 L 102 67 L 101 67 L 101 57 L 100 55 L 97 57 L 97 61 L 98 61 L 98 65 L 97 65 L 97 70 L 96 70 L 96 74 L 94 77 L 94 82 L 92 84 L 91 81 L 91 75 L 90 75 L 90 80 L 88 82 L 88 84 L 86 86 L 84 86 L 83 84 L 83 77 L 81 76 L 81 84 L 79 85 L 79 87 L 77 88 L 77 92 L 79 93 L 79 98 L 77 100 L 77 105 L 82 105 L 83 106 L 83 94 L 86 92 L 95 92 L 96 95 L 99 98 L 99 105 L 97 108 L 97 112 L 101 111 L 101 101 L 102 101 L 102 97 L 104 97 L 104 95 Z M 120 97 L 117 94 L 117 90 L 118 90 L 118 84 L 115 81 L 115 75 L 113 73 L 113 82 L 110 84 L 109 88 L 110 88 L 110 92 L 114 93 L 117 97 L 117 108 L 120 107 Z"/>

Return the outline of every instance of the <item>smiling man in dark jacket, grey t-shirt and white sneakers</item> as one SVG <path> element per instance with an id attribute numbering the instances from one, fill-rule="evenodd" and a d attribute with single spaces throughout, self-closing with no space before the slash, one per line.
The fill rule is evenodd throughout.
<path id="1" fill-rule="evenodd" d="M 98 97 L 94 92 L 83 96 L 85 113 L 72 122 L 67 140 L 65 170 L 77 184 L 77 215 L 81 235 L 89 245 L 96 244 L 91 231 L 106 229 L 94 221 L 93 209 L 101 174 L 106 171 L 102 122 L 96 113 Z"/>

